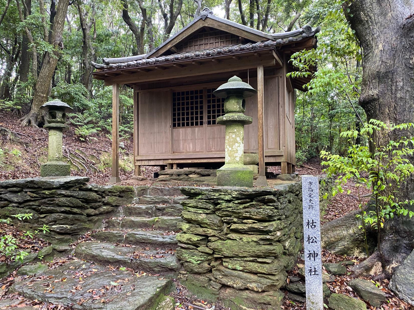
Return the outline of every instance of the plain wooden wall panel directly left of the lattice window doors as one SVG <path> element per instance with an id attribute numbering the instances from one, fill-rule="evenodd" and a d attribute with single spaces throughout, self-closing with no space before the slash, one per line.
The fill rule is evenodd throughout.
<path id="1" fill-rule="evenodd" d="M 139 93 L 139 155 L 171 153 L 171 92 Z"/>

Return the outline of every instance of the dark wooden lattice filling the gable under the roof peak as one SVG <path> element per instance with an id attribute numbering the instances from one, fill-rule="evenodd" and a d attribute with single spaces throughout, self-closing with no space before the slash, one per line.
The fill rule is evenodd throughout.
<path id="1" fill-rule="evenodd" d="M 199 32 L 178 47 L 178 52 L 204 50 L 240 43 L 238 36 L 222 30 Z"/>

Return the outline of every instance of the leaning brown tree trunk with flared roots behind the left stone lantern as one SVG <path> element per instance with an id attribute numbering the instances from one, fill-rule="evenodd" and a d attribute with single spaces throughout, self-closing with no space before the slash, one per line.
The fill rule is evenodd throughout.
<path id="1" fill-rule="evenodd" d="M 63 48 L 62 33 L 68 6 L 69 0 L 60 0 L 57 5 L 51 35 L 51 44 L 55 46 L 56 51 L 54 52 L 54 55 L 50 55 L 48 52 L 45 54 L 39 78 L 36 81 L 31 110 L 20 119 L 22 126 L 31 125 L 37 127 L 39 123 L 43 121 L 40 107 L 48 98 L 52 76 L 55 72 L 56 65 L 58 64 L 58 57 L 60 56 L 58 50 Z"/>

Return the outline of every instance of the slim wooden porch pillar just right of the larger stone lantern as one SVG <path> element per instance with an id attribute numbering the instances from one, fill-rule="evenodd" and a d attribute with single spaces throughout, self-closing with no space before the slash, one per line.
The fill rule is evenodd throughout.
<path id="1" fill-rule="evenodd" d="M 264 83 L 263 66 L 258 66 L 258 144 L 259 144 L 259 175 L 265 176 L 265 128 L 264 128 Z"/>

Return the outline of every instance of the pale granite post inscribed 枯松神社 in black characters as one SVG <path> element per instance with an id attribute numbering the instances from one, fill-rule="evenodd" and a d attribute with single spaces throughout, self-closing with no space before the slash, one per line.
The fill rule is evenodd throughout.
<path id="1" fill-rule="evenodd" d="M 302 201 L 306 309 L 323 310 L 319 182 L 317 176 L 302 176 Z"/>

